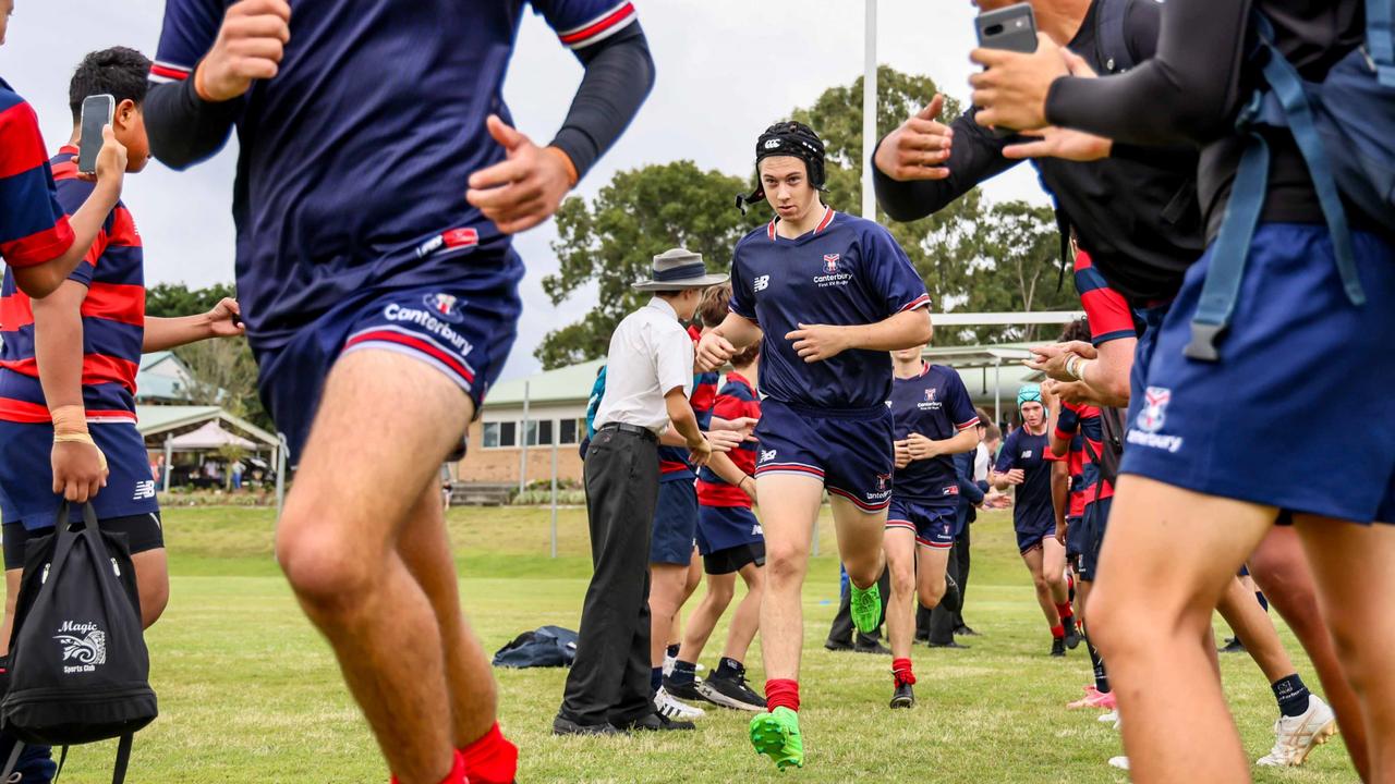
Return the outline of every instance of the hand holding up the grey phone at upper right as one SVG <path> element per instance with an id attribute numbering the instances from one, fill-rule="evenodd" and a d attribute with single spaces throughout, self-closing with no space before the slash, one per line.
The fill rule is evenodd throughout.
<path id="1" fill-rule="evenodd" d="M 1043 32 L 1036 33 L 1036 52 L 1024 54 L 1006 49 L 975 49 L 970 60 L 983 71 L 968 78 L 972 85 L 975 120 L 979 126 L 1030 131 L 1046 126 L 1046 93 L 1050 84 L 1069 77 L 1062 47 Z"/>

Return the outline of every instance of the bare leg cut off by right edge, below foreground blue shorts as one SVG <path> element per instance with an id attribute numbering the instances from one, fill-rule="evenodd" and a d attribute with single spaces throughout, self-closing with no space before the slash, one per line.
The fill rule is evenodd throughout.
<path id="1" fill-rule="evenodd" d="M 1297 516 L 1322 617 L 1366 718 L 1367 781 L 1395 781 L 1395 526 Z"/>

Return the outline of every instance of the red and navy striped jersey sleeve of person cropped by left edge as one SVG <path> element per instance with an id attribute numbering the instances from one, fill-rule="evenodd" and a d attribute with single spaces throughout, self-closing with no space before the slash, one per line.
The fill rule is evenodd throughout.
<path id="1" fill-rule="evenodd" d="M 39 119 L 0 80 L 0 259 L 33 266 L 73 247 L 73 227 L 59 206 Z"/>

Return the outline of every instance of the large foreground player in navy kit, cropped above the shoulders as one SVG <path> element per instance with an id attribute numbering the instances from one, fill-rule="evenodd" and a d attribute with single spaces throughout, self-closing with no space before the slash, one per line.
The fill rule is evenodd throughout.
<path id="1" fill-rule="evenodd" d="M 513 780 L 437 470 L 513 345 L 509 234 L 653 84 L 628 0 L 531 6 L 586 70 L 547 146 L 502 98 L 523 0 L 169 0 L 151 70 L 156 158 L 188 166 L 237 128 L 237 292 L 299 466 L 276 555 L 403 784 Z"/>

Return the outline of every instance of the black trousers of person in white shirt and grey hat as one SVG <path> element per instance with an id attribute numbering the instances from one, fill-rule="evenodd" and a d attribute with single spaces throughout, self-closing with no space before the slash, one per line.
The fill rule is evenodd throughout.
<path id="1" fill-rule="evenodd" d="M 643 435 L 601 430 L 586 451 L 591 583 L 576 661 L 558 716 L 626 724 L 649 699 L 649 538 L 658 499 L 658 448 Z"/>

